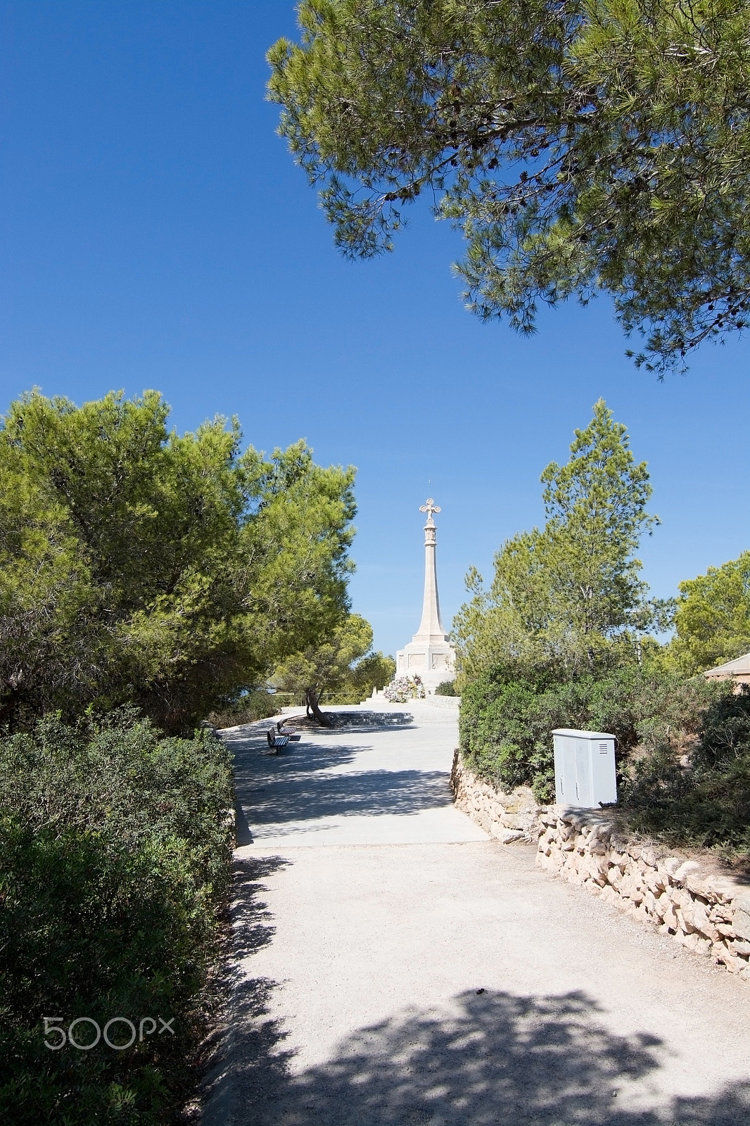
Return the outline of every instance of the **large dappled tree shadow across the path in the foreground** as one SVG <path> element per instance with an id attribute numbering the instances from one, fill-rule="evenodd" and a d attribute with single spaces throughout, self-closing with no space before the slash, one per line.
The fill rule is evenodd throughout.
<path id="1" fill-rule="evenodd" d="M 661 1042 L 601 1024 L 584 993 L 462 993 L 454 1015 L 412 1010 L 359 1029 L 334 1058 L 293 1074 L 268 1020 L 240 1034 L 235 1118 L 253 1126 L 748 1126 L 750 1084 L 661 1100 Z M 249 1010 L 248 1010 L 249 1011 Z M 247 1012 L 238 1012 L 242 1024 Z M 252 1024 L 252 1021 L 251 1021 Z M 260 1053 L 264 1053 L 259 1055 Z M 624 1105 L 639 1089 L 639 1109 Z M 651 1107 L 643 1109 L 644 1096 Z M 618 1105 L 619 1100 L 619 1105 Z"/>

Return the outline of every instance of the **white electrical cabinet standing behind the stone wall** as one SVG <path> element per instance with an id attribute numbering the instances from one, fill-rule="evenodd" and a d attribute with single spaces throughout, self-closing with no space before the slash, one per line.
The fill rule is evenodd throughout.
<path id="1" fill-rule="evenodd" d="M 596 810 L 617 801 L 615 736 L 601 731 L 552 732 L 555 750 L 555 801 Z"/>

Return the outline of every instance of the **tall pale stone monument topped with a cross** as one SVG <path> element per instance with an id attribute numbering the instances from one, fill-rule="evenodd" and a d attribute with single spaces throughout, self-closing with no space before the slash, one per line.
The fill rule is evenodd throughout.
<path id="1" fill-rule="evenodd" d="M 436 527 L 434 512 L 439 507 L 431 497 L 422 504 L 420 512 L 427 512 L 425 525 L 425 598 L 422 600 L 422 619 L 419 629 L 408 645 L 396 653 L 396 677 L 419 677 L 425 690 L 434 692 L 444 680 L 455 677 L 455 649 L 448 641 L 448 635 L 440 617 L 440 600 L 437 592 L 437 571 L 435 569 Z"/>

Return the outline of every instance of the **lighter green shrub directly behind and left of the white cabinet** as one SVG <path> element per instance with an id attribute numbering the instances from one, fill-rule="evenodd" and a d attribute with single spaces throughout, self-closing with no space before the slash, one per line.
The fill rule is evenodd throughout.
<path id="1" fill-rule="evenodd" d="M 527 785 L 554 801 L 552 732 L 607 731 L 617 738 L 618 768 L 639 748 L 655 753 L 670 736 L 695 734 L 724 689 L 685 681 L 655 668 L 626 665 L 606 676 L 562 680 L 550 670 L 497 665 L 472 681 L 461 701 L 461 747 L 482 778 L 512 789 Z"/>

